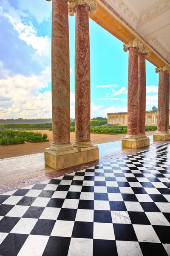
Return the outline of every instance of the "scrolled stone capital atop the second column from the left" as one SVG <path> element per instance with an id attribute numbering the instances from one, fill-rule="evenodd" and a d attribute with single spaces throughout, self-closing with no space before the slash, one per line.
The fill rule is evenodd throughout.
<path id="1" fill-rule="evenodd" d="M 70 16 L 74 16 L 75 8 L 78 5 L 87 5 L 87 6 L 89 6 L 89 13 L 91 15 L 96 13 L 97 3 L 95 1 L 92 1 L 92 0 L 72 0 L 72 2 L 68 4 L 68 14 Z"/>

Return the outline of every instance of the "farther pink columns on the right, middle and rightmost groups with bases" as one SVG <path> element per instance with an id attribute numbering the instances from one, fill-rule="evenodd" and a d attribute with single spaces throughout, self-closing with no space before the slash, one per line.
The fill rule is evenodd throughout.
<path id="1" fill-rule="evenodd" d="M 138 39 L 124 44 L 124 51 L 129 51 L 128 61 L 128 93 L 127 93 L 127 136 L 122 140 L 126 148 L 141 148 L 150 144 L 145 134 L 146 109 L 146 73 L 145 58 L 150 50 Z M 169 132 L 169 74 L 170 67 L 156 68 L 159 73 L 158 93 L 158 130 L 154 140 L 170 139 Z M 137 118 L 136 118 L 137 117 Z"/>

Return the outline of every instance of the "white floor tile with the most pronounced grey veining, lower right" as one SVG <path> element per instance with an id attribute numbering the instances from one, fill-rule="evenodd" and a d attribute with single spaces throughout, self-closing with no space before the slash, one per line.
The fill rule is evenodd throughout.
<path id="1" fill-rule="evenodd" d="M 118 224 L 131 224 L 127 211 L 111 211 L 112 222 Z"/>

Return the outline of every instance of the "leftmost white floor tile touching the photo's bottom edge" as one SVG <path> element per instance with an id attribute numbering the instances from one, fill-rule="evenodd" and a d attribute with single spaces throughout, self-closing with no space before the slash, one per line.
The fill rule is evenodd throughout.
<path id="1" fill-rule="evenodd" d="M 17 256 L 42 256 L 49 236 L 29 235 Z"/>

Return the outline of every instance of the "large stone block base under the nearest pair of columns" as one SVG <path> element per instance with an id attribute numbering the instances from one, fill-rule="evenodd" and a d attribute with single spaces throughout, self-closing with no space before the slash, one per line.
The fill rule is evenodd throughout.
<path id="1" fill-rule="evenodd" d="M 45 148 L 45 164 L 55 170 L 77 166 L 99 160 L 98 146 L 90 148 L 74 148 L 70 151 L 52 151 Z"/>

